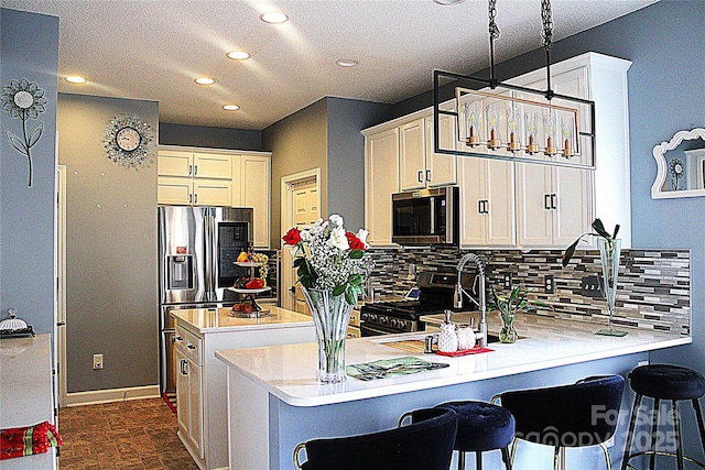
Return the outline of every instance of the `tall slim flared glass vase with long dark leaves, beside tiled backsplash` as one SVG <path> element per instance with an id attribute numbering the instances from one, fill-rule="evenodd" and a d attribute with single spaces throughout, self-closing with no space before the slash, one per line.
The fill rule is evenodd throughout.
<path id="1" fill-rule="evenodd" d="M 619 225 L 615 226 L 615 230 L 610 234 L 605 230 L 605 226 L 600 219 L 593 221 L 593 229 L 596 233 L 583 233 L 577 240 L 565 249 L 563 254 L 563 267 L 567 266 L 571 259 L 575 254 L 577 244 L 585 236 L 598 237 L 597 245 L 599 248 L 599 259 L 603 267 L 603 295 L 607 300 L 609 310 L 609 328 L 595 331 L 595 335 L 605 336 L 626 336 L 627 331 L 615 330 L 615 300 L 617 296 L 617 275 L 619 274 L 619 253 L 621 251 L 621 240 L 617 238 L 619 233 Z"/>

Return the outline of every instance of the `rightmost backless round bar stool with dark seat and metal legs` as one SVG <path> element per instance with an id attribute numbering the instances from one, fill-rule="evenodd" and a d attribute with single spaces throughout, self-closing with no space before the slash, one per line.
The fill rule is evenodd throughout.
<path id="1" fill-rule="evenodd" d="M 683 442 L 681 431 L 681 411 L 679 402 L 690 400 L 695 409 L 695 417 L 699 428 L 703 451 L 705 452 L 705 426 L 703 425 L 703 411 L 701 409 L 699 398 L 705 395 L 705 378 L 697 371 L 670 364 L 649 364 L 640 365 L 629 374 L 629 383 L 631 390 L 634 391 L 634 405 L 631 411 L 631 420 L 629 423 L 629 434 L 627 435 L 627 444 L 625 446 L 625 456 L 622 458 L 622 470 L 630 468 L 630 460 L 639 456 L 649 456 L 649 468 L 655 469 L 657 456 L 675 457 L 679 470 L 683 470 L 683 462 L 688 461 L 701 468 L 705 468 L 705 463 L 699 462 L 690 457 L 683 456 Z M 639 407 L 641 400 L 644 397 L 653 398 L 653 408 L 651 412 L 651 437 L 650 450 L 641 452 L 631 452 L 631 445 L 634 437 L 634 426 L 638 420 Z M 659 427 L 659 414 L 662 400 L 672 402 L 673 413 L 673 430 L 675 433 L 675 455 L 673 452 L 659 451 L 657 449 L 657 430 Z"/>

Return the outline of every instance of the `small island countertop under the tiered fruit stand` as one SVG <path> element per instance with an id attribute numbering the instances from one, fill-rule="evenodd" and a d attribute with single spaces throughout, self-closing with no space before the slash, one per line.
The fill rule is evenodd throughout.
<path id="1" fill-rule="evenodd" d="M 185 321 L 198 332 L 240 331 L 263 328 L 297 327 L 301 324 L 313 324 L 308 315 L 299 314 L 281 307 L 267 306 L 270 316 L 259 318 L 239 318 L 230 316 L 230 308 L 191 308 L 171 310 L 176 321 Z"/>

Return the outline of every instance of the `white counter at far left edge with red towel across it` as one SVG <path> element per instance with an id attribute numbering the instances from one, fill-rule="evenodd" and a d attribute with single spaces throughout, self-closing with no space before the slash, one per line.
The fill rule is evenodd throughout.
<path id="1" fill-rule="evenodd" d="M 50 335 L 0 339 L 0 429 L 55 424 Z M 54 451 L 0 460 L 0 469 L 53 468 Z"/>

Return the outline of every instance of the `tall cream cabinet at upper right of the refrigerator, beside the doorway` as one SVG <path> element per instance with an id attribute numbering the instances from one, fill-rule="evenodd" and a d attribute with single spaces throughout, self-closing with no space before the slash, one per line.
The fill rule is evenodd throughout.
<path id="1" fill-rule="evenodd" d="M 253 208 L 252 241 L 254 248 L 269 248 L 270 239 L 271 157 L 269 155 L 232 155 L 232 207 Z"/>

